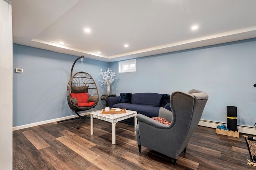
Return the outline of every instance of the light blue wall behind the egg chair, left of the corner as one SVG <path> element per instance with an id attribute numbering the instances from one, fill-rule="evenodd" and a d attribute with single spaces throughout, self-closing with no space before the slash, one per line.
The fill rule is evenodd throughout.
<path id="1" fill-rule="evenodd" d="M 13 74 L 13 127 L 75 115 L 68 107 L 66 88 L 72 64 L 78 57 L 13 44 L 13 68 L 23 69 L 23 73 Z M 100 86 L 99 71 L 108 67 L 109 63 L 103 61 L 83 61 L 83 71 L 94 78 L 100 96 L 106 94 L 106 86 Z M 80 60 L 73 74 L 77 71 L 81 71 Z M 99 100 L 92 110 L 104 106 L 105 101 Z"/>

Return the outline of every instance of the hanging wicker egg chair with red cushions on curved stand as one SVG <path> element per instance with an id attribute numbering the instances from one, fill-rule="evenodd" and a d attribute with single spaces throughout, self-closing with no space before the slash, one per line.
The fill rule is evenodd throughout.
<path id="1" fill-rule="evenodd" d="M 78 61 L 78 59 L 81 58 L 81 65 L 83 64 L 83 57 L 84 56 L 81 56 L 76 59 L 76 61 Z M 72 111 L 76 113 L 76 115 L 78 115 L 78 117 L 58 121 L 57 123 L 74 119 L 81 119 L 77 127 L 77 129 L 79 129 L 82 120 L 90 117 L 86 117 L 86 115 L 82 116 L 78 112 L 86 111 L 96 107 L 99 102 L 99 95 L 94 79 L 90 74 L 83 72 L 83 68 L 82 71 L 72 75 L 76 61 L 74 61 L 72 65 L 70 80 L 68 81 L 67 100 L 68 106 Z"/>

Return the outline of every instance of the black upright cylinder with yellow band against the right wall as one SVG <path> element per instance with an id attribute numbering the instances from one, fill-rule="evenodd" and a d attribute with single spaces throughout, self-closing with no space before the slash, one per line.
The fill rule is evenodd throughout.
<path id="1" fill-rule="evenodd" d="M 235 106 L 227 106 L 227 128 L 237 132 L 237 108 Z"/>

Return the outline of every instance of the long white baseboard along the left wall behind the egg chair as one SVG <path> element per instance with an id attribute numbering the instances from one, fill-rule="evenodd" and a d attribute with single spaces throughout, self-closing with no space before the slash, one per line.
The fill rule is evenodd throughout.
<path id="1" fill-rule="evenodd" d="M 90 113 L 82 113 L 80 115 L 81 116 L 90 115 Z M 27 124 L 27 125 L 21 125 L 21 126 L 17 126 L 17 127 L 12 127 L 12 131 L 20 130 L 20 129 L 23 129 L 23 128 L 34 127 L 34 126 L 38 126 L 38 125 L 44 125 L 46 123 L 58 122 L 58 121 L 62 121 L 62 120 L 65 120 L 65 119 L 71 119 L 71 118 L 74 118 L 74 117 L 78 117 L 78 115 L 71 115 L 71 116 L 61 117 L 61 118 L 57 118 L 57 119 L 51 119 L 51 120 L 47 120 L 47 121 L 30 123 L 30 124 Z"/>

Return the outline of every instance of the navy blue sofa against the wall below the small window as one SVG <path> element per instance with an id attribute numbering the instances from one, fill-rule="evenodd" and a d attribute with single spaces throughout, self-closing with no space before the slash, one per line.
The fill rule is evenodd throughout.
<path id="1" fill-rule="evenodd" d="M 107 103 L 110 108 L 125 108 L 126 110 L 136 111 L 137 113 L 152 118 L 158 117 L 158 112 L 161 106 L 171 110 L 170 95 L 168 95 L 168 101 L 163 101 L 162 99 L 164 95 L 166 97 L 166 94 L 159 93 L 134 93 L 132 94 L 130 103 L 118 103 L 120 96 L 109 97 Z M 121 122 L 134 125 L 134 118 L 132 117 Z"/>

